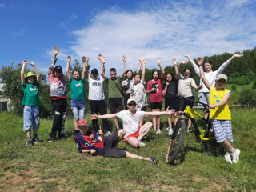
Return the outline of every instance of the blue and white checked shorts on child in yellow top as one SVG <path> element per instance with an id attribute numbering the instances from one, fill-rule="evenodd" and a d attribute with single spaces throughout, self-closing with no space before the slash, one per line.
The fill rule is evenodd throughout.
<path id="1" fill-rule="evenodd" d="M 233 142 L 232 126 L 230 120 L 212 120 L 211 122 L 216 142 L 224 142 L 228 140 Z"/>

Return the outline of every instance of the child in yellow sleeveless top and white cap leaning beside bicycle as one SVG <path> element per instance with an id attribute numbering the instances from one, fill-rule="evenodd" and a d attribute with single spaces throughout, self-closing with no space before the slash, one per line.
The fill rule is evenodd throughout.
<path id="1" fill-rule="evenodd" d="M 210 119 L 212 119 L 212 127 L 216 142 L 222 143 L 225 149 L 226 162 L 239 162 L 239 149 L 234 149 L 230 142 L 233 142 L 232 127 L 231 127 L 231 114 L 227 104 L 227 100 L 230 98 L 231 91 L 224 89 L 226 86 L 227 77 L 225 74 L 218 74 L 215 80 L 216 87 L 212 86 L 207 81 L 203 72 L 203 59 L 198 58 L 198 65 L 202 82 L 206 85 L 209 94 L 209 107 L 210 107 Z M 232 156 L 232 161 L 231 157 Z"/>

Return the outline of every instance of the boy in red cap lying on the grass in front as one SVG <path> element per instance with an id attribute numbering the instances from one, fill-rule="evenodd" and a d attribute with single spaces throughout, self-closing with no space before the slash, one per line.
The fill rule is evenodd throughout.
<path id="1" fill-rule="evenodd" d="M 74 137 L 74 141 L 80 153 L 97 154 L 108 158 L 138 158 L 153 162 L 154 164 L 158 163 L 158 158 L 154 156 L 143 158 L 137 154 L 130 154 L 126 150 L 118 150 L 116 146 L 118 146 L 118 143 L 125 136 L 126 132 L 124 130 L 118 129 L 114 134 L 105 137 L 101 127 L 98 130 L 99 134 L 94 130 L 88 130 L 86 119 L 80 119 L 78 121 L 78 129 L 80 134 Z"/>

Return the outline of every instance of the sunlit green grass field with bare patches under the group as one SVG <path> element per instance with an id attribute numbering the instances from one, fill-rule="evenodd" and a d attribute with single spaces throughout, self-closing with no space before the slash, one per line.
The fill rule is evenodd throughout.
<path id="1" fill-rule="evenodd" d="M 134 149 L 125 142 L 118 146 L 144 157 L 155 155 L 159 162 L 153 165 L 79 154 L 72 119 L 66 120 L 67 139 L 54 143 L 47 142 L 52 119 L 41 119 L 38 137 L 43 142 L 27 147 L 22 117 L 2 113 L 0 191 L 256 191 L 256 109 L 233 107 L 231 113 L 240 162 L 231 165 L 219 154 L 202 152 L 194 135 L 186 133 L 179 161 L 172 166 L 165 162 L 170 142 L 166 116 L 161 118 L 162 134 L 151 130 L 143 140 L 146 146 Z"/>

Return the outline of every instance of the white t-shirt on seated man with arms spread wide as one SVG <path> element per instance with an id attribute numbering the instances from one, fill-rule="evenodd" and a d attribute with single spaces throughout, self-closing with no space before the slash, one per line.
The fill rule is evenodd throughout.
<path id="1" fill-rule="evenodd" d="M 130 114 L 129 110 L 122 110 L 117 113 L 117 117 L 122 119 L 122 128 L 126 131 L 124 138 L 138 130 L 139 122 L 145 115 L 146 112 L 142 110 L 136 110 L 134 115 Z"/>

